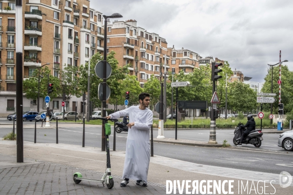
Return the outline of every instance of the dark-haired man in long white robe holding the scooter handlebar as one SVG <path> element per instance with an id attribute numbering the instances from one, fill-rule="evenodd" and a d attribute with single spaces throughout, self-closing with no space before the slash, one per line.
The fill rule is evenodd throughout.
<path id="1" fill-rule="evenodd" d="M 109 115 L 107 118 L 129 116 L 128 136 L 123 178 L 120 186 L 125 187 L 129 179 L 136 184 L 147 186 L 147 172 L 150 160 L 149 129 L 153 123 L 153 113 L 149 110 L 149 94 L 139 95 L 139 106 L 131 106 L 125 110 Z"/>

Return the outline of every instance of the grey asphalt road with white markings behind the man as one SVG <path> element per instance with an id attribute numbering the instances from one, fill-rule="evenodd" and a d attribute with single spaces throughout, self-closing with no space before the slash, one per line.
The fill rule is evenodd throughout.
<path id="1" fill-rule="evenodd" d="M 70 126 L 70 124 L 68 124 Z M 0 129 L 0 137 L 9 133 L 9 129 Z M 101 127 L 86 128 L 85 146 L 101 147 Z M 59 128 L 59 143 L 82 145 L 83 128 Z M 153 132 L 154 137 L 158 131 Z M 175 131 L 164 132 L 165 137 L 174 138 Z M 253 145 L 241 148 L 232 143 L 233 130 L 217 130 L 217 141 L 224 139 L 231 144 L 230 148 L 208 148 L 176 144 L 154 143 L 154 155 L 166 156 L 198 164 L 229 167 L 235 169 L 279 174 L 287 171 L 293 175 L 293 152 L 286 152 L 277 146 L 279 134 L 264 134 L 260 148 Z M 34 141 L 34 129 L 23 129 L 25 141 Z M 127 133 L 116 133 L 116 150 L 126 150 Z M 178 130 L 178 139 L 198 141 L 209 140 L 209 130 Z M 55 129 L 37 129 L 38 143 L 56 143 Z M 110 136 L 110 148 L 113 148 L 113 128 Z M 236 173 L 235 173 L 236 174 Z"/>

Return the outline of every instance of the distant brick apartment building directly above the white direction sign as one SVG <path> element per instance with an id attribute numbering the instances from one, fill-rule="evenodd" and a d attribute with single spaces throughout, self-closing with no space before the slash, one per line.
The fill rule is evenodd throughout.
<path id="1" fill-rule="evenodd" d="M 170 52 L 172 72 L 178 74 L 182 70 L 185 74 L 189 74 L 194 68 L 199 68 L 200 56 L 197 53 L 184 48 L 176 50 L 174 46 L 170 48 Z"/>

